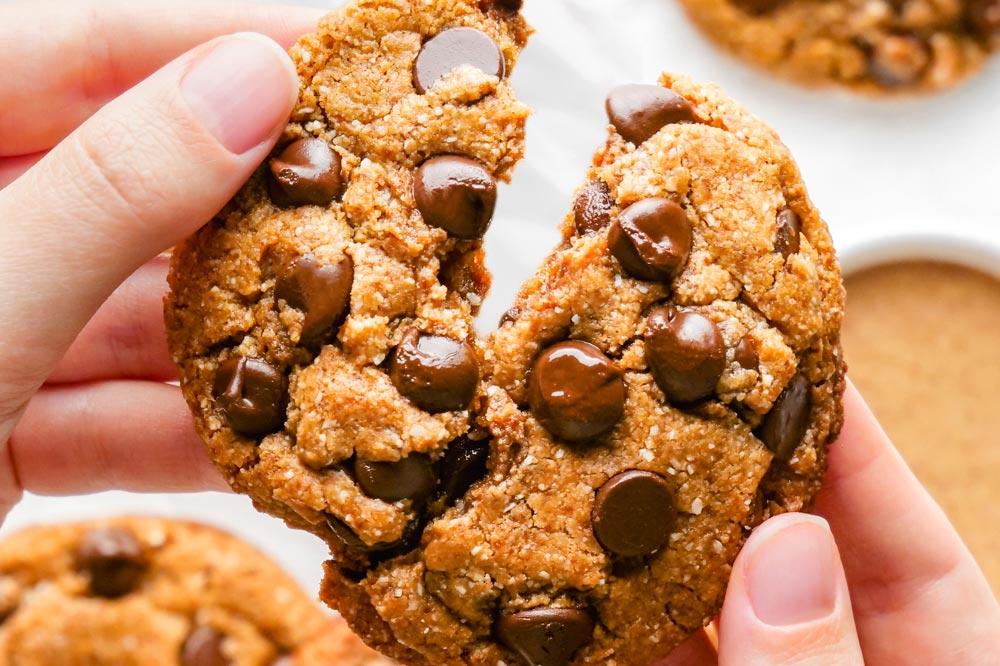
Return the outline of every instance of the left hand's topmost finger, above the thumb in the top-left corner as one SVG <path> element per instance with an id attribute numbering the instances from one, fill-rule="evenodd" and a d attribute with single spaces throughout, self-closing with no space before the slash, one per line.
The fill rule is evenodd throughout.
<path id="1" fill-rule="evenodd" d="M 51 148 L 108 101 L 213 37 L 260 32 L 287 48 L 321 15 L 247 2 L 0 3 L 0 155 Z"/>

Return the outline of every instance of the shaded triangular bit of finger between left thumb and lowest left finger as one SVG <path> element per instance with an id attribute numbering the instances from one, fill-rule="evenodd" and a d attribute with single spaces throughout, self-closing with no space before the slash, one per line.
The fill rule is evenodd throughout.
<path id="1" fill-rule="evenodd" d="M 56 364 L 46 383 L 177 378 L 163 325 L 169 259 L 142 266 L 105 301 Z"/>

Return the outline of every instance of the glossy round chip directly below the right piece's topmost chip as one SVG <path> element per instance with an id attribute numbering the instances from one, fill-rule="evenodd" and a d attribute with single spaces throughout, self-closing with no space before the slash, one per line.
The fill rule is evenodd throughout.
<path id="1" fill-rule="evenodd" d="M 669 280 L 691 253 L 691 220 L 670 199 L 644 199 L 618 216 L 608 233 L 611 254 L 639 280 Z"/>

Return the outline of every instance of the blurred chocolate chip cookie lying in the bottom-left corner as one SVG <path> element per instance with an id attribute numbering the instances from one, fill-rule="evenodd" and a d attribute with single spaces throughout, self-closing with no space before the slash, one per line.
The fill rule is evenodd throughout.
<path id="1" fill-rule="evenodd" d="M 0 622 L 4 666 L 391 665 L 250 546 L 157 518 L 6 539 Z"/>

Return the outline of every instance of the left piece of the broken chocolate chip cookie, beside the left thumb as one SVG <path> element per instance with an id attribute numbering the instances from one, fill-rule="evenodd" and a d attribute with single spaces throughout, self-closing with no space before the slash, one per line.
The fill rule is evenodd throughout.
<path id="1" fill-rule="evenodd" d="M 271 158 L 174 254 L 168 336 L 210 453 L 355 567 L 409 550 L 487 448 L 482 238 L 524 149 L 510 0 L 357 1 L 292 49 Z"/>

